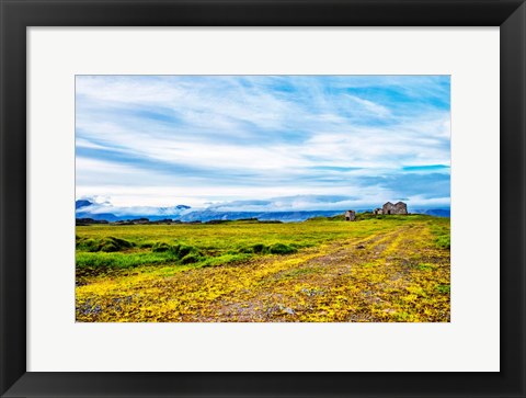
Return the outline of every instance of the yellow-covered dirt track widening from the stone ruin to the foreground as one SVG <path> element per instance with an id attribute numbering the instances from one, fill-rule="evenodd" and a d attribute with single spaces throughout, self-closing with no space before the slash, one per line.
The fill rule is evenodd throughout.
<path id="1" fill-rule="evenodd" d="M 296 254 L 172 274 L 145 269 L 79 288 L 85 321 L 449 321 L 449 250 L 410 225 Z"/>

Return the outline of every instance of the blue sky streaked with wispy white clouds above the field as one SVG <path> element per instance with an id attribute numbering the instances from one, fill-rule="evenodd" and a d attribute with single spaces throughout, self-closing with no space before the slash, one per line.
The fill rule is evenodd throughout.
<path id="1" fill-rule="evenodd" d="M 449 94 L 449 76 L 77 76 L 77 200 L 448 208 Z"/>

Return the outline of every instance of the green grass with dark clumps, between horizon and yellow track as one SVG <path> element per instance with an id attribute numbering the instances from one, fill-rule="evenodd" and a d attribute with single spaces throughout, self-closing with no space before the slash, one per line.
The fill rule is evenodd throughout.
<path id="1" fill-rule="evenodd" d="M 375 216 L 359 221 L 318 217 L 289 224 L 240 220 L 194 225 L 78 226 L 76 263 L 78 270 L 87 269 L 90 273 L 147 264 L 213 266 L 261 255 L 293 254 L 305 248 L 348 238 L 365 238 L 411 220 L 431 223 L 432 230 L 444 232 L 446 229 L 441 219 L 420 215 L 380 219 Z M 445 235 L 438 238 L 445 239 Z"/>

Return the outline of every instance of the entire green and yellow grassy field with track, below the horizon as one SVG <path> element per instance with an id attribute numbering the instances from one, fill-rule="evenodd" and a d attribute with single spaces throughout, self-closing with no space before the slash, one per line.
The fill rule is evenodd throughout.
<path id="1" fill-rule="evenodd" d="M 449 219 L 77 227 L 77 321 L 449 321 Z"/>

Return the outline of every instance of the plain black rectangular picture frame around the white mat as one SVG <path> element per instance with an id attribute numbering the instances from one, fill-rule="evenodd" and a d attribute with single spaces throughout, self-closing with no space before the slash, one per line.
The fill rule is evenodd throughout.
<path id="1" fill-rule="evenodd" d="M 524 0 L 0 0 L 0 13 L 2 397 L 526 396 Z M 26 27 L 173 25 L 500 26 L 501 372 L 26 372 Z"/>

